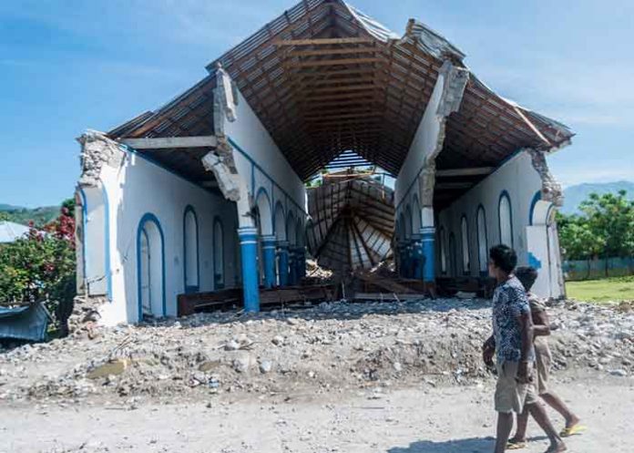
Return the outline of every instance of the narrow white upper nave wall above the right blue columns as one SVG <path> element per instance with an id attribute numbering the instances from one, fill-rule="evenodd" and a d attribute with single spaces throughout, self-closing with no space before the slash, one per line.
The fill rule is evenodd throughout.
<path id="1" fill-rule="evenodd" d="M 436 112 L 438 111 L 440 99 L 443 96 L 444 85 L 445 77 L 439 74 L 432 96 L 424 110 L 421 124 L 418 126 L 418 129 L 416 129 L 403 167 L 401 167 L 394 183 L 394 202 L 396 206 L 399 207 L 399 210 L 401 208 L 399 203 L 401 203 L 404 197 L 406 201 L 403 202 L 403 206 L 407 202 L 411 202 L 413 194 L 418 192 L 418 184 L 414 183 L 414 180 L 423 168 L 425 158 L 436 149 L 438 134 L 440 133 L 441 124 L 444 120 L 444 118 L 439 116 Z M 411 190 L 409 190 L 410 188 Z"/>

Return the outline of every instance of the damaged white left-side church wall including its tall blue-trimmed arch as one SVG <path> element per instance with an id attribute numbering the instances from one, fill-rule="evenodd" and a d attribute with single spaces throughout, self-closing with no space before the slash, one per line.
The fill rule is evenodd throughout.
<path id="1" fill-rule="evenodd" d="M 111 141 L 111 144 L 114 143 Z M 104 270 L 103 281 L 109 281 L 110 301 L 100 306 L 100 322 L 118 324 L 139 320 L 139 293 L 146 291 L 145 288 L 139 288 L 139 273 L 145 274 L 146 271 L 151 274 L 152 283 L 145 286 L 155 292 L 151 314 L 177 314 L 177 295 L 186 292 L 186 211 L 195 212 L 198 224 L 198 290 L 205 292 L 216 289 L 213 250 L 215 221 L 220 221 L 223 232 L 224 287 L 234 286 L 239 272 L 236 264 L 235 204 L 161 168 L 138 153 L 115 147 L 120 155 L 111 163 L 116 165 L 101 166 L 97 175 L 98 186 L 107 193 L 107 206 L 99 208 L 107 212 L 107 237 L 103 233 L 99 234 L 104 231 L 103 221 L 88 219 L 84 240 L 87 269 L 101 262 L 102 252 L 109 254 L 109 268 Z M 79 187 L 82 189 L 81 183 Z M 91 212 L 90 199 L 87 200 L 87 212 Z M 143 227 L 140 224 L 142 220 L 149 221 L 148 229 L 139 235 L 139 229 Z M 139 261 L 139 247 L 147 241 L 152 242 L 148 252 L 152 254 L 150 260 L 153 260 L 148 270 Z M 162 244 L 156 241 L 162 241 Z M 157 291 L 160 294 L 157 295 Z"/>

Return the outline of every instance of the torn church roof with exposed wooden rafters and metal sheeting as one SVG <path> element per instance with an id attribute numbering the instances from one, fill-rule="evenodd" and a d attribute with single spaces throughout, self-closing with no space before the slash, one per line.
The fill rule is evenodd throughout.
<path id="1" fill-rule="evenodd" d="M 211 62 L 196 86 L 112 137 L 213 133 L 220 63 L 302 180 L 348 149 L 396 175 L 438 71 L 446 60 L 465 67 L 464 57 L 414 19 L 399 37 L 342 0 L 305 0 Z M 557 149 L 573 135 L 470 73 L 436 164 L 495 167 L 517 149 Z"/>

